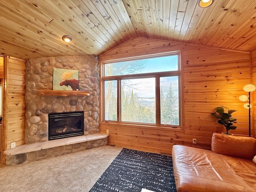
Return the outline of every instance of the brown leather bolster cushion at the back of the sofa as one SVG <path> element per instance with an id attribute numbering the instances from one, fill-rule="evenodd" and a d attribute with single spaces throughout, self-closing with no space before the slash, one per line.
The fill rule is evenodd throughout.
<path id="1" fill-rule="evenodd" d="M 252 160 L 256 155 L 256 139 L 213 133 L 212 151 L 218 154 Z"/>

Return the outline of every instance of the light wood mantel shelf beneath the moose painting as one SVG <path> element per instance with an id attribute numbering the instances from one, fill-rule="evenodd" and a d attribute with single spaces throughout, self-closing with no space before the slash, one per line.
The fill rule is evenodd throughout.
<path id="1" fill-rule="evenodd" d="M 61 91 L 61 90 L 38 90 L 40 96 L 89 96 L 90 91 Z"/>

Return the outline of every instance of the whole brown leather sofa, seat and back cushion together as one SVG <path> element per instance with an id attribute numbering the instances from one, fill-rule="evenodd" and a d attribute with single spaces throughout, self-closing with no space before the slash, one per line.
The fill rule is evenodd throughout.
<path id="1" fill-rule="evenodd" d="M 174 145 L 177 192 L 256 192 L 256 139 L 214 133 L 212 149 Z"/>

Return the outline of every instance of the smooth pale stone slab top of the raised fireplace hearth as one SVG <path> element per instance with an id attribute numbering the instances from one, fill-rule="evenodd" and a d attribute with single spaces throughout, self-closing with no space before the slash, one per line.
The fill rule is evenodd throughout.
<path id="1" fill-rule="evenodd" d="M 40 151 L 40 150 L 58 147 L 58 146 L 65 146 L 65 145 L 71 145 L 76 143 L 88 142 L 92 140 L 104 139 L 104 138 L 107 138 L 108 136 L 109 136 L 108 133 L 98 133 L 98 134 L 92 134 L 92 135 L 83 135 L 83 136 L 76 136 L 76 137 L 70 137 L 70 138 L 64 138 L 64 139 L 51 140 L 51 141 L 46 141 L 42 143 L 25 144 L 15 148 L 8 149 L 4 151 L 4 154 L 16 155 L 16 154 Z"/>

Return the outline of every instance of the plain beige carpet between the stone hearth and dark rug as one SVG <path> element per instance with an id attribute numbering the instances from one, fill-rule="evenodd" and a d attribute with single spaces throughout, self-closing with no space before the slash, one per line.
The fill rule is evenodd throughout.
<path id="1" fill-rule="evenodd" d="M 0 165 L 0 192 L 88 192 L 121 150 L 102 146 L 19 165 Z"/>

